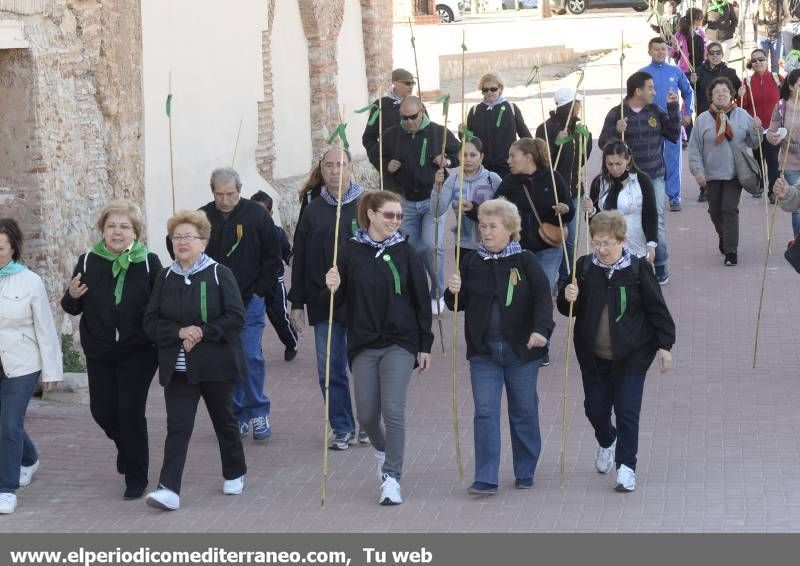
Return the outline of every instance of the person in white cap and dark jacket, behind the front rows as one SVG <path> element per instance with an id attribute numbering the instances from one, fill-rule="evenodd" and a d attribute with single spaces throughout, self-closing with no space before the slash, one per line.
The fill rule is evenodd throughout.
<path id="1" fill-rule="evenodd" d="M 539 124 L 536 128 L 536 137 L 545 139 L 545 131 L 547 128 L 547 139 L 550 141 L 550 158 L 552 159 L 554 168 L 561 173 L 567 186 L 570 190 L 570 197 L 572 198 L 573 208 L 578 206 L 578 178 L 579 170 L 579 151 L 578 141 L 580 134 L 576 130 L 576 126 L 580 122 L 581 103 L 583 95 L 576 92 L 574 88 L 562 87 L 558 89 L 553 95 L 556 103 L 556 109 L 550 111 L 550 118 L 543 124 Z M 573 100 L 575 103 L 573 104 Z M 588 128 L 587 130 L 588 131 Z M 564 143 L 560 143 L 566 140 Z M 556 143 L 559 142 L 559 143 Z M 561 152 L 559 156 L 559 151 Z M 592 134 L 589 132 L 589 137 L 586 139 L 586 160 L 589 160 L 589 155 L 592 152 Z M 556 157 L 558 162 L 556 163 Z M 569 221 L 568 229 L 570 234 L 575 233 L 575 222 L 578 215 L 572 217 Z M 561 260 L 561 267 L 558 270 L 558 284 L 566 285 L 568 270 L 567 266 L 572 265 L 572 258 L 575 250 L 575 240 L 567 238 L 567 256 Z"/>

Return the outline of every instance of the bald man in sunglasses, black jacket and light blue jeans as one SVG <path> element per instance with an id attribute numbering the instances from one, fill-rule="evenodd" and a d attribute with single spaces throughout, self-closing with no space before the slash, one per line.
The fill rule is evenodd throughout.
<path id="1" fill-rule="evenodd" d="M 446 136 L 445 152 L 442 151 L 442 136 Z M 391 179 L 391 188 L 401 193 L 403 200 L 403 223 L 400 229 L 408 235 L 425 264 L 431 279 L 431 301 L 433 312 L 441 312 L 444 291 L 444 240 L 443 216 L 446 207 L 434 218 L 431 192 L 437 171 L 446 177 L 445 169 L 458 165 L 458 139 L 444 126 L 430 121 L 422 101 L 416 96 L 407 96 L 400 104 L 400 124 L 383 132 L 383 168 Z M 380 169 L 378 145 L 369 149 L 369 160 Z M 389 188 L 389 187 L 387 187 Z M 442 220 L 440 222 L 440 219 Z M 439 232 L 438 273 L 433 270 L 434 233 Z"/>

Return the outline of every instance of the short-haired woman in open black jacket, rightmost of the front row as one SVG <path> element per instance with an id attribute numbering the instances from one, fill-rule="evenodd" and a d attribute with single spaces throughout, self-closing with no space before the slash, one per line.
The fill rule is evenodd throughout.
<path id="1" fill-rule="evenodd" d="M 558 310 L 568 315 L 573 303 L 584 408 L 600 444 L 595 468 L 607 474 L 616 462 L 615 489 L 627 492 L 636 488 L 645 374 L 657 353 L 661 373 L 672 367 L 675 323 L 647 260 L 623 246 L 622 213 L 596 214 L 589 232 L 594 252 L 578 259 L 577 284 L 561 289 Z"/>

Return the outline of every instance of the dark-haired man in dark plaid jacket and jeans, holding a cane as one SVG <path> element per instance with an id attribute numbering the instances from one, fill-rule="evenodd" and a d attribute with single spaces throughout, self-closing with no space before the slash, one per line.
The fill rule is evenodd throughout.
<path id="1" fill-rule="evenodd" d="M 628 144 L 636 166 L 650 176 L 656 193 L 658 208 L 658 247 L 656 248 L 656 278 L 660 285 L 669 281 L 667 261 L 667 231 L 664 224 L 664 199 L 666 183 L 662 140 L 677 143 L 681 134 L 680 107 L 678 94 L 667 94 L 667 112 L 661 110 L 653 101 L 655 87 L 653 78 L 644 71 L 637 71 L 628 77 L 628 93 L 623 102 L 623 116 L 620 105 L 609 110 L 600 133 L 598 147 L 604 148 L 611 139 L 622 139 Z"/>

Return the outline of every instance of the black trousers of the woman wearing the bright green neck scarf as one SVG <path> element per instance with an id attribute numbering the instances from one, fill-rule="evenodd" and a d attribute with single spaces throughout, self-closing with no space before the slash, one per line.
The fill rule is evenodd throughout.
<path id="1" fill-rule="evenodd" d="M 147 442 L 147 393 L 158 367 L 158 350 L 150 346 L 125 357 L 86 359 L 89 409 L 117 447 L 117 471 L 131 488 L 147 486 L 150 449 Z"/>

